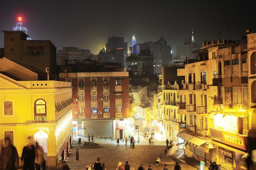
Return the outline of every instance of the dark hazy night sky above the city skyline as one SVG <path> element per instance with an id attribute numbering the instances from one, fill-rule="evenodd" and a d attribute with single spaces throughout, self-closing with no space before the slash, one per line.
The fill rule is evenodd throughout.
<path id="1" fill-rule="evenodd" d="M 107 38 L 123 36 L 128 46 L 157 41 L 161 36 L 175 50 L 191 36 L 195 40 L 238 40 L 250 28 L 256 32 L 253 0 L 0 0 L 0 30 L 11 30 L 17 17 L 32 39 L 63 46 L 90 48 L 98 53 Z M 0 33 L 0 48 L 3 33 Z"/>

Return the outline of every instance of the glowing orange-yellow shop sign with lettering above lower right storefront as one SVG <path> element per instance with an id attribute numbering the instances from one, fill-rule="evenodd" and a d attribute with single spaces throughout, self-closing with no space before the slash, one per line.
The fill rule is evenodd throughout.
<path id="1" fill-rule="evenodd" d="M 233 135 L 222 132 L 223 139 L 227 144 L 246 150 L 245 141 L 243 136 Z"/>

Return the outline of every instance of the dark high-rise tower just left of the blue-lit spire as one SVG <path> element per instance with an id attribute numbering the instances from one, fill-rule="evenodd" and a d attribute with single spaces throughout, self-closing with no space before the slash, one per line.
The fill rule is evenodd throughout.
<path id="1" fill-rule="evenodd" d="M 124 42 L 123 37 L 119 37 L 119 36 L 109 37 L 108 43 L 106 43 L 106 48 L 107 48 L 107 51 L 112 51 L 112 56 L 109 58 L 109 60 L 105 60 L 105 62 L 121 63 L 122 66 L 126 66 L 128 47 L 127 47 L 127 42 Z"/>

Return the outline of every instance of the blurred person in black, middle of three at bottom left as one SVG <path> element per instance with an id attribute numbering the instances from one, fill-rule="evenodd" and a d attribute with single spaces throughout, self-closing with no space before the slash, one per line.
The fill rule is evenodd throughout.
<path id="1" fill-rule="evenodd" d="M 22 170 L 35 170 L 36 151 L 33 145 L 33 136 L 28 137 L 29 144 L 23 147 L 21 162 L 23 161 Z"/>

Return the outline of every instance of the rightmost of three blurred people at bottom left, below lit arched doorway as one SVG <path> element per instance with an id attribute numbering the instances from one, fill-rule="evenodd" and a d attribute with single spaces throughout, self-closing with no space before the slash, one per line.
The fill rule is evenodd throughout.
<path id="1" fill-rule="evenodd" d="M 43 148 L 38 145 L 38 142 L 35 142 L 35 151 L 36 151 L 36 170 L 45 170 L 45 160 L 43 157 Z"/>

